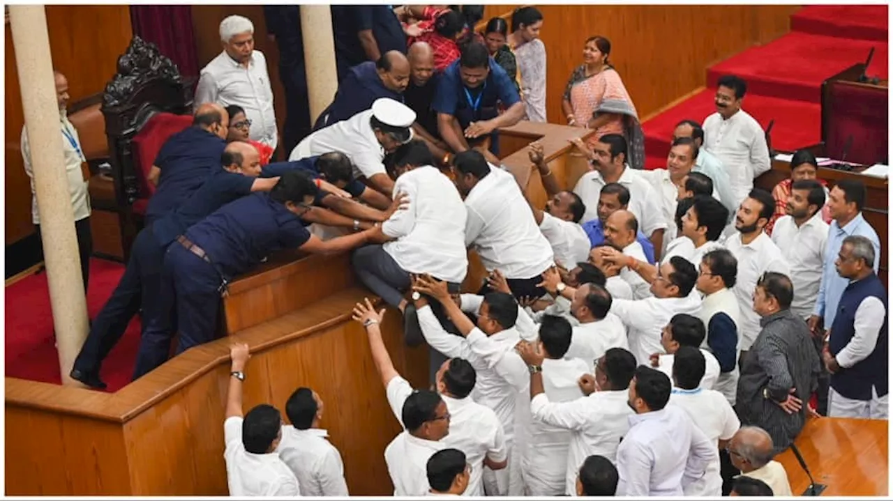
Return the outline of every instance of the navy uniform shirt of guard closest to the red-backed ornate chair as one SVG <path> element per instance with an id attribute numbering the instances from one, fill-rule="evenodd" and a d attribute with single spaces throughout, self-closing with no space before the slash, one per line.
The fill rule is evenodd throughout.
<path id="1" fill-rule="evenodd" d="M 200 127 L 188 127 L 164 143 L 154 165 L 162 169 L 146 208 L 146 225 L 179 207 L 207 177 L 221 168 L 226 141 Z"/>

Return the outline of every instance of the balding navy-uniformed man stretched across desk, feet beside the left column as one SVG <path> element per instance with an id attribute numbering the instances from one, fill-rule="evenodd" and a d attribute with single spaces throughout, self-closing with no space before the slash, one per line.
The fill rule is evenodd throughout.
<path id="1" fill-rule="evenodd" d="M 171 332 L 172 304 L 171 298 L 161 293 L 164 251 L 189 226 L 213 211 L 248 193 L 269 191 L 279 180 L 279 177 L 261 179 L 260 175 L 261 157 L 254 146 L 241 141 L 227 144 L 217 158 L 216 167 L 203 178 L 204 184 L 177 209 L 146 225 L 137 234 L 124 275 L 96 316 L 74 362 L 73 379 L 92 388 L 105 387 L 99 378 L 100 366 L 140 308 L 142 339 L 134 379 L 167 359 L 170 345 L 165 345 L 163 340 Z"/>

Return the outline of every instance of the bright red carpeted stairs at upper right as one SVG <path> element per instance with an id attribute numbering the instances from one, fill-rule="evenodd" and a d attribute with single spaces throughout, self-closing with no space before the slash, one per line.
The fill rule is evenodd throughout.
<path id="1" fill-rule="evenodd" d="M 821 141 L 822 81 L 864 62 L 874 47 L 869 76 L 887 78 L 887 5 L 821 5 L 791 16 L 791 32 L 738 53 L 706 71 L 706 89 L 643 124 L 647 168 L 664 168 L 672 130 L 683 119 L 702 123 L 715 111 L 716 81 L 734 74 L 747 81 L 743 109 L 765 128 L 772 147 L 793 151 Z"/>

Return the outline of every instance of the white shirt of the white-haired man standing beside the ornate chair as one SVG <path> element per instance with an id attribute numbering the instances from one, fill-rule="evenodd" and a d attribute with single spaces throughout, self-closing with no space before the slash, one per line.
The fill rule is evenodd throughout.
<path id="1" fill-rule="evenodd" d="M 251 120 L 251 139 L 273 150 L 279 144 L 270 75 L 261 51 L 251 54 L 247 68 L 234 61 L 226 51 L 213 58 L 202 69 L 196 86 L 196 109 L 204 103 L 241 106 L 246 118 Z"/>

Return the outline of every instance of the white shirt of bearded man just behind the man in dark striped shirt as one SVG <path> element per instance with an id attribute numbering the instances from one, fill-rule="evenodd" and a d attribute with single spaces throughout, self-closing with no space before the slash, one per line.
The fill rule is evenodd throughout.
<path id="1" fill-rule="evenodd" d="M 774 271 L 790 276 L 788 261 L 781 250 L 772 242 L 765 232 L 760 233 L 753 242 L 741 243 L 741 234 L 733 234 L 726 239 L 726 248 L 738 259 L 738 278 L 735 281 L 735 297 L 741 308 L 738 324 L 738 335 L 741 349 L 747 351 L 754 344 L 756 335 L 760 333 L 760 316 L 754 311 L 754 290 L 756 281 L 767 271 Z"/>

